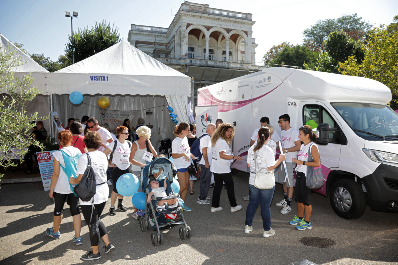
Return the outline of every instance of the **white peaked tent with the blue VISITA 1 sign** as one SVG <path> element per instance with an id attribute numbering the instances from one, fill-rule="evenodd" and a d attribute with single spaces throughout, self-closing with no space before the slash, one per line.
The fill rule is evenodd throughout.
<path id="1" fill-rule="evenodd" d="M 69 102 L 68 95 L 74 91 L 84 95 L 83 103 L 73 105 Z M 120 117 L 117 120 L 120 125 L 125 117 L 133 126 L 137 125 L 139 117 L 146 120 L 146 125 L 150 120 L 154 142 L 172 136 L 174 123 L 168 115 L 167 105 L 174 109 L 179 122 L 188 121 L 187 97 L 191 95 L 191 79 L 121 41 L 49 74 L 46 92 L 55 94 L 51 110 L 58 111 L 64 124 L 70 117 L 81 119 L 83 115 L 105 121 L 106 117 L 102 116 L 112 110 L 114 120 Z M 111 101 L 108 109 L 100 109 L 97 105 L 102 95 Z M 126 111 L 133 111 L 133 114 L 128 116 Z"/>

